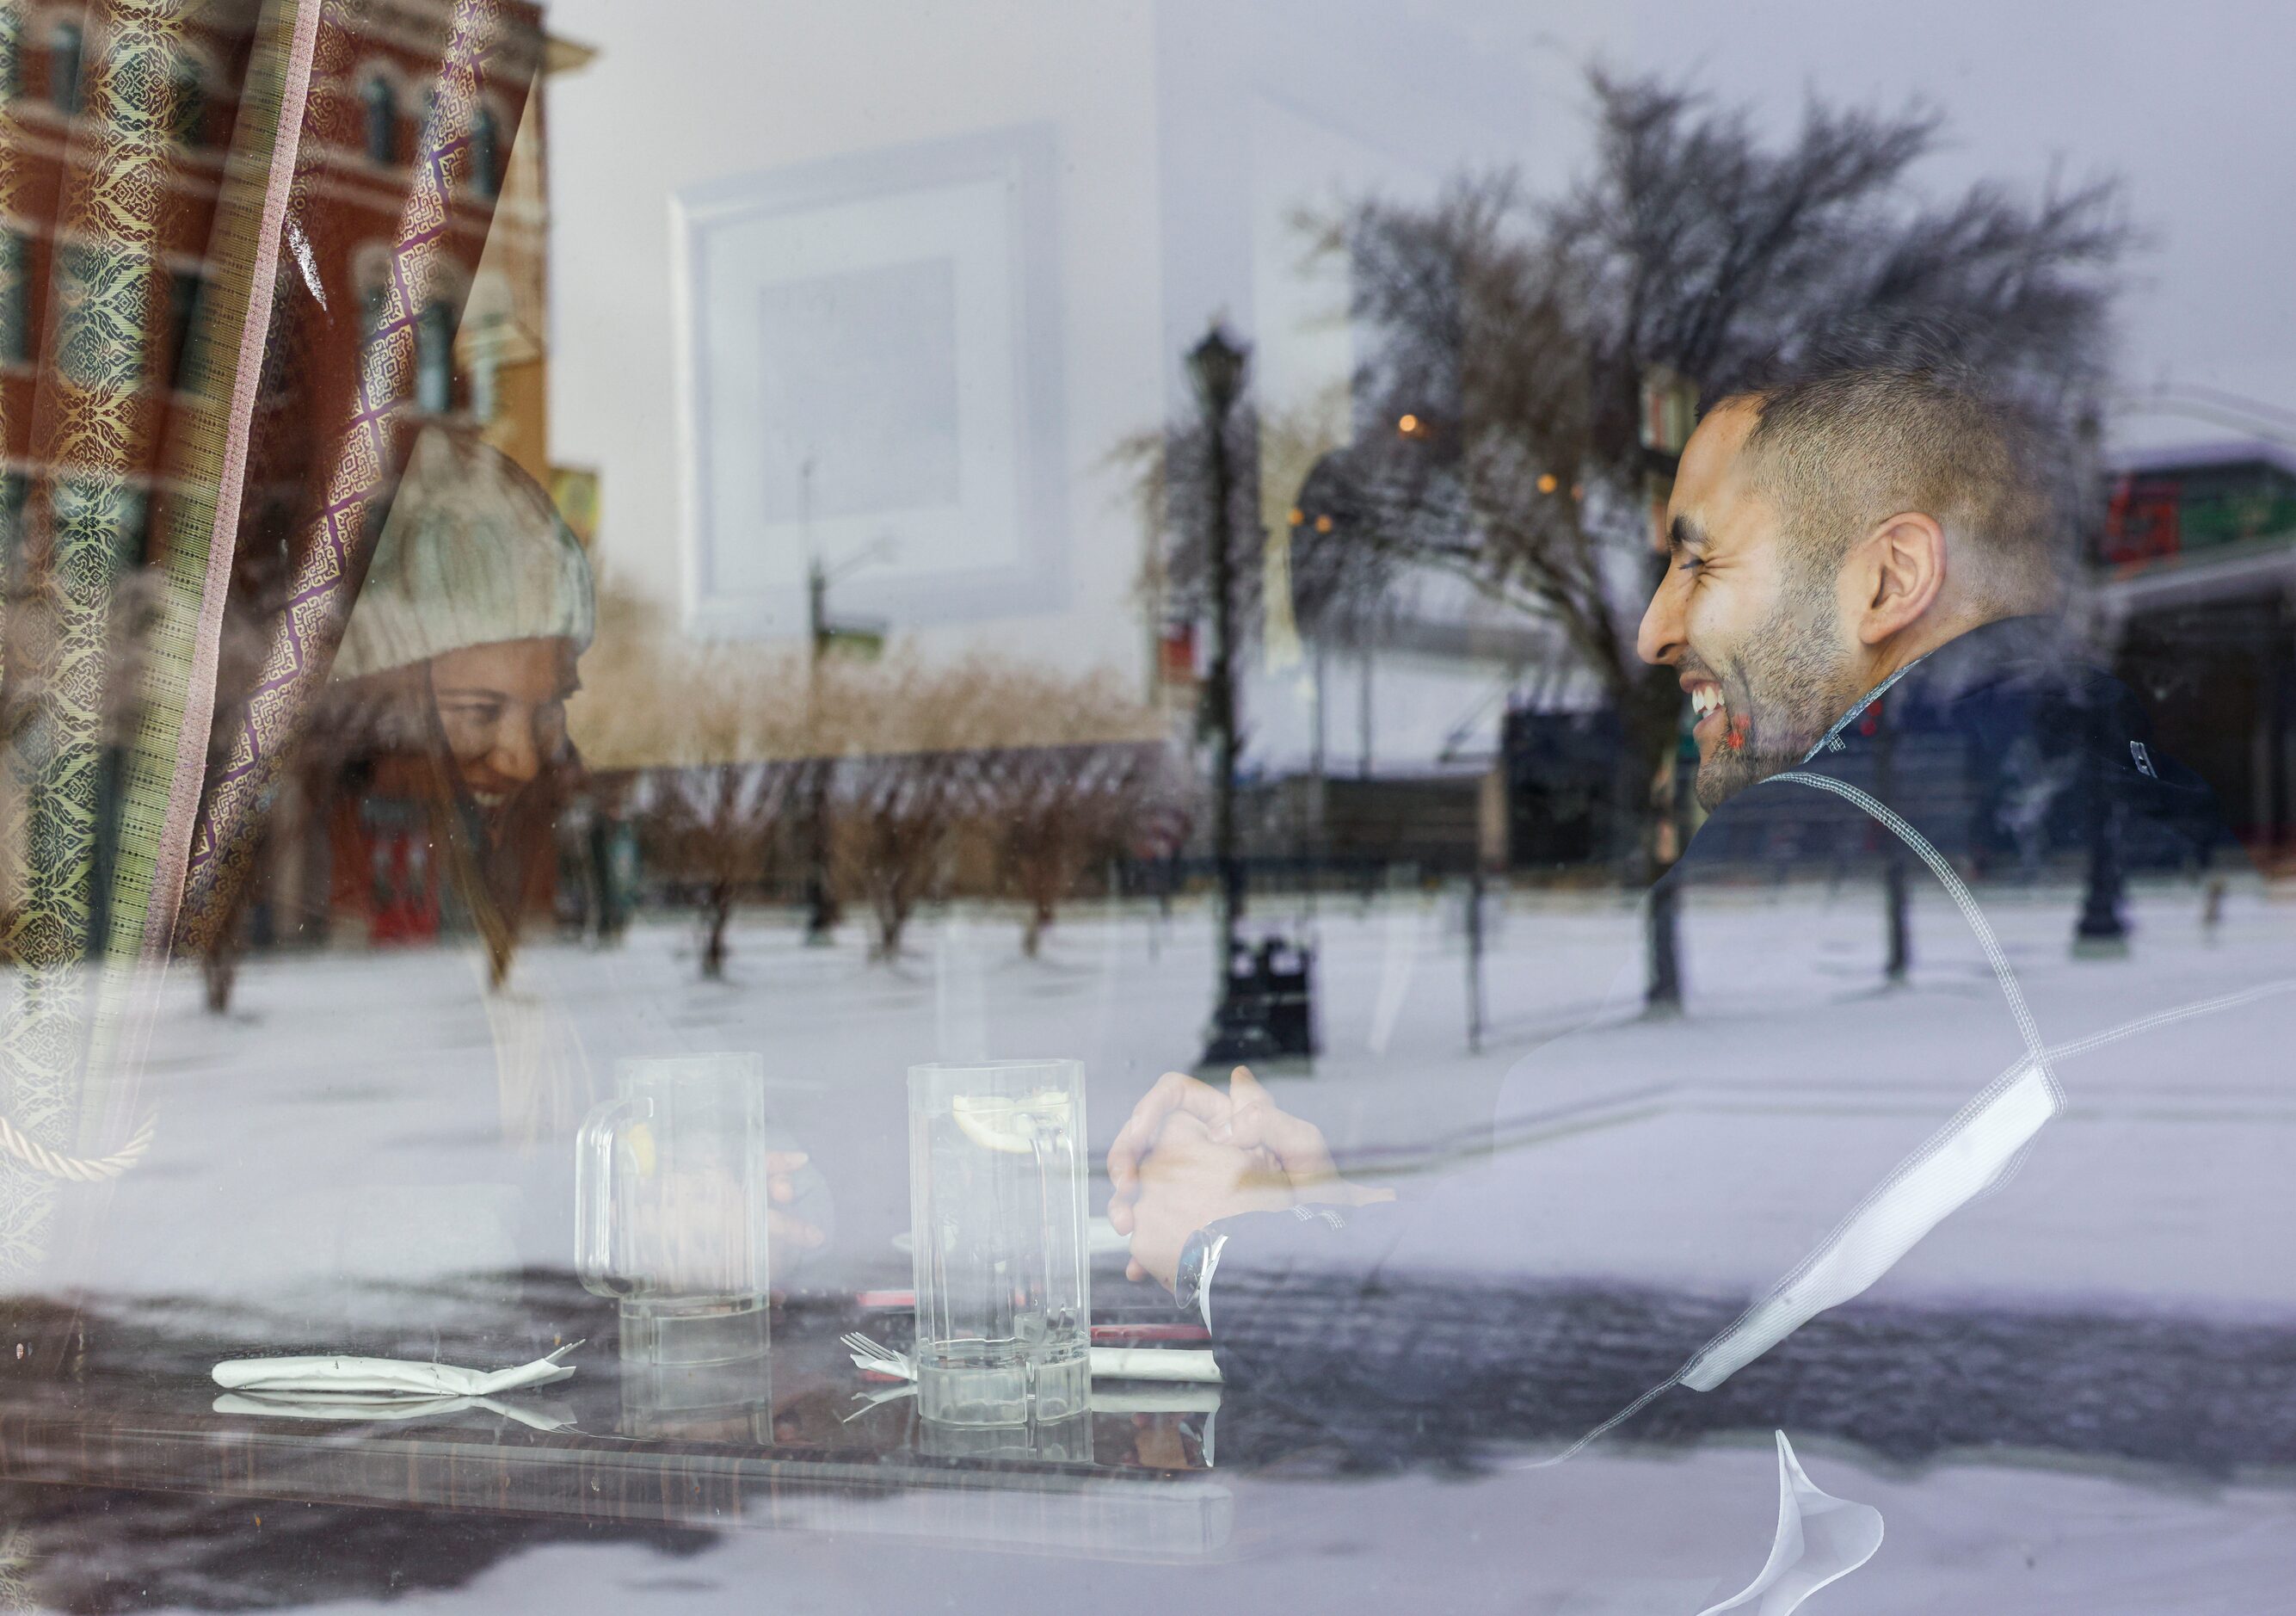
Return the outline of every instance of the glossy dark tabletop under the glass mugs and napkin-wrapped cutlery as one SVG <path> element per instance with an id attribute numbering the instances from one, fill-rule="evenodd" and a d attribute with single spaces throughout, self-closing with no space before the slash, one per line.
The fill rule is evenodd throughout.
<path id="1" fill-rule="evenodd" d="M 625 1366 L 611 1311 L 595 1322 L 572 1380 L 418 1419 L 218 1409 L 211 1361 L 99 1354 L 0 1389 L 0 1481 L 1146 1559 L 1215 1554 L 1233 1524 L 1217 1386 L 1097 1382 L 1088 1419 L 946 1428 L 859 1396 L 891 1384 L 838 1336 L 907 1345 L 898 1313 L 776 1306 L 769 1354 L 709 1377 Z"/>

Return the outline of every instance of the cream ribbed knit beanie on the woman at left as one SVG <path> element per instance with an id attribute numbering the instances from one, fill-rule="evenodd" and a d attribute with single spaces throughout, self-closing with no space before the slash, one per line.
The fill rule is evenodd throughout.
<path id="1" fill-rule="evenodd" d="M 590 558 L 551 496 L 466 432 L 416 438 L 335 652 L 358 679 L 501 640 L 590 645 Z"/>

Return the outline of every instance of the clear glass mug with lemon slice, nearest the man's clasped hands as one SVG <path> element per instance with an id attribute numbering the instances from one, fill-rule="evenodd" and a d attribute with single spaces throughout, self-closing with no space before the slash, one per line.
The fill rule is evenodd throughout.
<path id="1" fill-rule="evenodd" d="M 909 1067 L 918 1414 L 1052 1423 L 1093 1403 L 1084 1067 Z"/>

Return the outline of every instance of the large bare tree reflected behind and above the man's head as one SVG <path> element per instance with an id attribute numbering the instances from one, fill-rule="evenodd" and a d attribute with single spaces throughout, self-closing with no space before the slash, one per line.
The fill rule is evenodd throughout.
<path id="1" fill-rule="evenodd" d="M 1681 87 L 1600 71 L 1589 87 L 1593 163 L 1561 197 L 1499 172 L 1320 223 L 1373 335 L 1357 390 L 1382 429 L 1300 503 L 1341 546 L 1554 624 L 1623 718 L 1621 852 L 1649 881 L 1674 856 L 1681 691 L 1632 650 L 1671 475 L 1644 448 L 1646 379 L 1711 402 L 1825 363 L 1968 365 L 2060 427 L 2071 480 L 2131 232 L 2112 184 L 1924 202 L 1908 174 L 1940 119 L 1919 108 L 1812 103 L 1766 145 Z M 1671 925 L 1653 904 L 1658 1008 L 1681 996 Z"/>

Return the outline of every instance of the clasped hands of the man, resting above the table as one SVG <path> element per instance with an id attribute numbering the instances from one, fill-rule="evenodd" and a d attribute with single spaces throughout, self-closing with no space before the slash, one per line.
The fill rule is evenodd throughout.
<path id="1" fill-rule="evenodd" d="M 1109 1221 L 1132 1240 L 1130 1279 L 1166 1290 L 1205 1223 L 1300 1203 L 1364 1205 L 1391 1191 L 1350 1184 L 1322 1129 L 1290 1116 L 1249 1067 L 1221 1093 L 1185 1072 L 1157 1079 L 1109 1145 Z"/>

